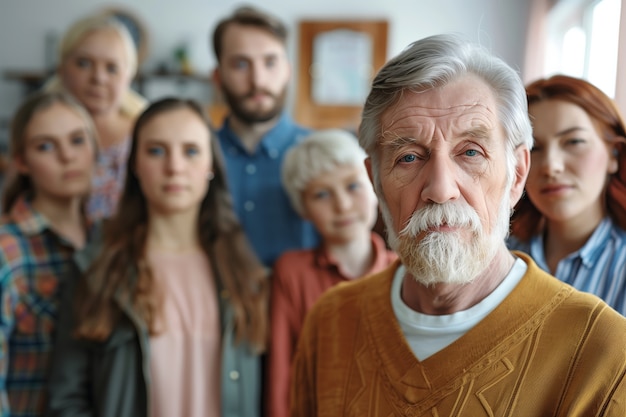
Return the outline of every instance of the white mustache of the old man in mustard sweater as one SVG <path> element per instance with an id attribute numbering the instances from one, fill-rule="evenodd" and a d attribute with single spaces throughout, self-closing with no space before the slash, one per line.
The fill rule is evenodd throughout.
<path id="1" fill-rule="evenodd" d="M 461 201 L 429 204 L 415 211 L 399 236 L 417 237 L 420 233 L 440 226 L 466 227 L 480 232 L 482 224 L 476 210 Z"/>

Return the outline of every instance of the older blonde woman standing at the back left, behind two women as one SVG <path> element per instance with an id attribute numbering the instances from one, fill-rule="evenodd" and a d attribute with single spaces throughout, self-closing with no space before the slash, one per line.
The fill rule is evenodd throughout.
<path id="1" fill-rule="evenodd" d="M 92 219 L 109 217 L 126 178 L 132 126 L 146 105 L 130 88 L 137 51 L 122 23 L 95 15 L 70 26 L 59 53 L 57 74 L 46 88 L 67 90 L 93 118 L 100 151 L 87 214 Z"/>

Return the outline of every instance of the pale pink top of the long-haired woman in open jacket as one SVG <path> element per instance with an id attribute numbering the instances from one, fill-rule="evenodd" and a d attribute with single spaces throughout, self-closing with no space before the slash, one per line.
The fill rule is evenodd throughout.
<path id="1" fill-rule="evenodd" d="M 159 334 L 150 338 L 150 417 L 219 417 L 221 331 L 209 261 L 201 251 L 151 253 L 163 291 Z"/>

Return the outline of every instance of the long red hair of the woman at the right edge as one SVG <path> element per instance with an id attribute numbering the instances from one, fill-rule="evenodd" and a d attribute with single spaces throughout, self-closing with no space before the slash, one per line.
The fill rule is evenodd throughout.
<path id="1" fill-rule="evenodd" d="M 528 106 L 545 100 L 560 100 L 583 109 L 599 128 L 601 137 L 614 145 L 619 168 L 608 180 L 606 207 L 609 216 L 626 229 L 626 127 L 617 105 L 593 84 L 566 75 L 555 75 L 526 87 Z M 515 206 L 511 234 L 528 241 L 541 231 L 543 215 L 527 194 Z"/>

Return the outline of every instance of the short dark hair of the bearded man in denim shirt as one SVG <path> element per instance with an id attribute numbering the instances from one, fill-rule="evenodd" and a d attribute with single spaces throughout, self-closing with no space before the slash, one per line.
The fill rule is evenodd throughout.
<path id="1" fill-rule="evenodd" d="M 213 31 L 213 51 L 215 52 L 217 62 L 220 62 L 222 55 L 224 32 L 231 24 L 253 26 L 262 29 L 276 37 L 283 45 L 287 43 L 287 27 L 277 17 L 251 6 L 242 6 L 237 8 L 232 15 L 220 20 Z"/>

